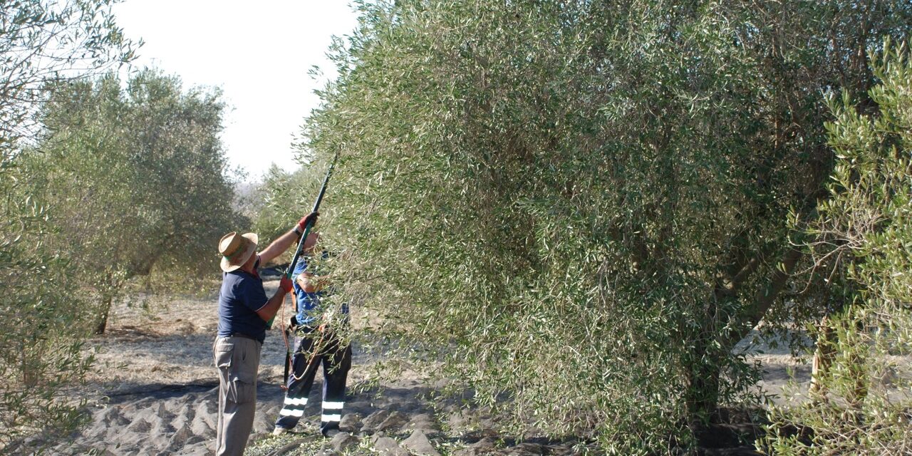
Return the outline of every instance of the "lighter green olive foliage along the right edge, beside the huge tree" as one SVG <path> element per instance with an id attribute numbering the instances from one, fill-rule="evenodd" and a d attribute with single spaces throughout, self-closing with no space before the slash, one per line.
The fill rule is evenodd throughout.
<path id="1" fill-rule="evenodd" d="M 912 451 L 912 63 L 889 42 L 873 60 L 876 109 L 829 98 L 837 159 L 810 246 L 846 299 L 824 320 L 810 400 L 772 411 L 774 454 Z"/>

